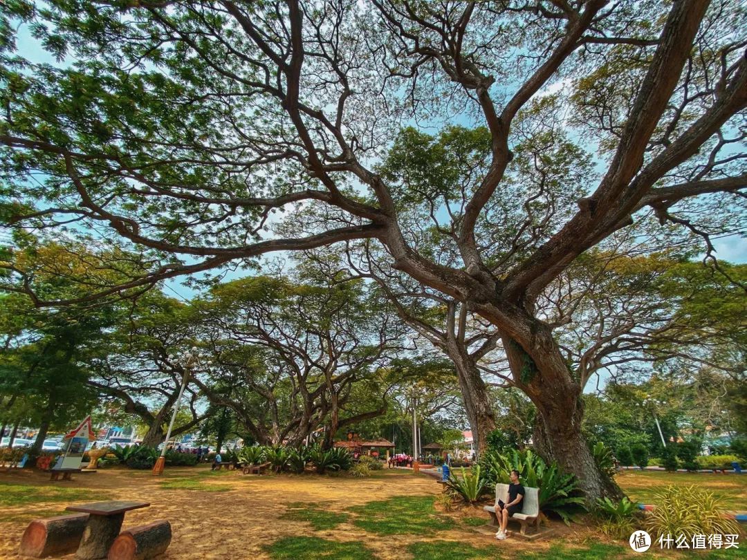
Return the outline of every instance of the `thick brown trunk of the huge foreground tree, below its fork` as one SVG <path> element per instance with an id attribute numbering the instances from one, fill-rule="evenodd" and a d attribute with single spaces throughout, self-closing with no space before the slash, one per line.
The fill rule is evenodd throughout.
<path id="1" fill-rule="evenodd" d="M 574 474 L 587 503 L 595 504 L 605 496 L 621 497 L 615 482 L 598 469 L 583 437 L 583 388 L 551 337 L 538 334 L 531 355 L 509 337 L 504 337 L 503 344 L 516 385 L 537 407 L 534 446 L 539 455 Z"/>

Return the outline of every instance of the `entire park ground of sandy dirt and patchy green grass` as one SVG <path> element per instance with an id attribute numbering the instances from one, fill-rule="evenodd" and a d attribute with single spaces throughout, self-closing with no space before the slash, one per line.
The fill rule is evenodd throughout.
<path id="1" fill-rule="evenodd" d="M 736 476 L 626 472 L 619 482 L 638 499 L 672 482 L 697 482 L 733 503 L 745 491 Z M 652 547 L 638 555 L 627 542 L 601 535 L 590 517 L 571 526 L 554 520 L 551 537 L 538 541 L 496 541 L 492 533 L 480 532 L 488 520 L 480 506 L 442 511 L 434 505 L 440 491 L 432 478 L 401 470 L 354 479 L 244 476 L 204 466 L 167 468 L 163 476 L 153 476 L 115 468 L 72 482 L 49 482 L 32 471 L 0 473 L 0 558 L 19 558 L 19 538 L 31 519 L 62 514 L 72 503 L 142 500 L 151 506 L 128 512 L 124 526 L 170 520 L 169 559 L 747 560 L 744 536 L 741 550 L 695 555 Z"/>

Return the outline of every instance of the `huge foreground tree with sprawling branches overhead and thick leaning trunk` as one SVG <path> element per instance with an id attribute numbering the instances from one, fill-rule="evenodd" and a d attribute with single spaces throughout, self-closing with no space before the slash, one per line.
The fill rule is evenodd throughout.
<path id="1" fill-rule="evenodd" d="M 651 213 L 706 237 L 739 228 L 738 2 L 6 5 L 3 214 L 15 228 L 87 225 L 104 246 L 119 238 L 143 252 L 140 273 L 92 282 L 85 299 L 376 239 L 397 270 L 498 329 L 536 405 L 542 452 L 590 499 L 613 491 L 581 435 L 583 385 L 536 302 L 616 231 L 656 234 Z M 19 19 L 75 62 L 15 55 Z M 382 175 L 374 165 L 403 119 L 468 122 L 486 149 L 468 150 L 457 176 L 438 165 L 415 180 Z M 431 142 L 409 134 L 394 147 L 416 161 Z M 294 205 L 322 219 L 265 233 L 273 211 Z M 458 261 L 418 247 L 409 224 L 424 220 Z M 5 287 L 29 291 L 33 268 L 8 270 Z"/>

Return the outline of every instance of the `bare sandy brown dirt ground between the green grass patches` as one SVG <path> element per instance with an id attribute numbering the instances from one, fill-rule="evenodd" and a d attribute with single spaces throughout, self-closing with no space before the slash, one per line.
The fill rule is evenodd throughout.
<path id="1" fill-rule="evenodd" d="M 423 541 L 423 535 L 377 535 L 351 523 L 335 529 L 314 532 L 307 522 L 282 518 L 288 505 L 317 503 L 326 511 L 345 511 L 352 505 L 394 496 L 439 494 L 441 488 L 433 478 L 392 470 L 376 473 L 367 479 L 347 476 L 270 475 L 244 476 L 235 471 L 209 474 L 206 467 L 170 468 L 164 476 L 149 471 L 108 469 L 75 476 L 72 482 L 49 482 L 37 472 L 0 473 L 0 492 L 20 484 L 39 492 L 39 500 L 25 505 L 0 505 L 0 558 L 16 559 L 21 535 L 31 519 L 61 514 L 66 505 L 96 500 L 142 500 L 149 508 L 129 511 L 124 527 L 170 520 L 173 526 L 171 546 L 163 558 L 168 559 L 269 559 L 266 547 L 279 538 L 313 535 L 334 541 L 364 543 L 382 560 L 412 558 L 408 544 Z M 167 488 L 169 485 L 187 488 Z M 192 488 L 189 488 L 189 487 Z M 77 488 L 83 496 L 73 501 L 45 502 L 43 494 L 50 487 Z M 78 498 L 78 496 L 76 496 Z M 45 514 L 45 512 L 47 512 Z M 477 508 L 462 508 L 448 514 L 456 521 L 454 529 L 440 531 L 434 539 L 459 541 L 475 547 L 495 547 L 495 556 L 513 556 L 512 551 L 542 552 L 551 544 L 580 543 L 595 534 L 583 524 L 571 528 L 554 522 L 556 529 L 550 541 L 530 545 L 514 538 L 498 542 L 492 535 L 474 532 L 461 523 L 464 517 L 485 517 Z M 73 555 L 65 558 L 72 558 Z"/>

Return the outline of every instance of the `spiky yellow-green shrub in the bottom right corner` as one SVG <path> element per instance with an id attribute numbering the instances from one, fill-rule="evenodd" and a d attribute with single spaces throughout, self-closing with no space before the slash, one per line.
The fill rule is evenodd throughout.
<path id="1" fill-rule="evenodd" d="M 654 509 L 646 518 L 646 530 L 655 541 L 661 535 L 736 535 L 734 519 L 724 517 L 722 504 L 712 492 L 695 485 L 668 486 L 654 494 Z"/>

